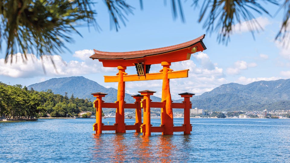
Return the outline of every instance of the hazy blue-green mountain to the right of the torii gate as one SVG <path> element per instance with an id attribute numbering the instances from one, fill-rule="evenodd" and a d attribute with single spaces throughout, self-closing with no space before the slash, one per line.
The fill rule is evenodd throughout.
<path id="1" fill-rule="evenodd" d="M 192 98 L 193 107 L 207 110 L 289 109 L 290 79 L 229 83 Z"/>

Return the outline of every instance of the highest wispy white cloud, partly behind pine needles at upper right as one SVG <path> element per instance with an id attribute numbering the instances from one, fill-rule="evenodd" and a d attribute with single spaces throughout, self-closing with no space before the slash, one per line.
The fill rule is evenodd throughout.
<path id="1" fill-rule="evenodd" d="M 253 26 L 252 24 L 259 24 Z M 266 17 L 259 17 L 256 19 L 252 19 L 250 21 L 243 21 L 240 24 L 235 24 L 232 26 L 233 33 L 243 33 L 249 32 L 254 30 L 260 30 L 261 28 L 264 29 L 267 25 L 271 24 L 269 19 Z"/>

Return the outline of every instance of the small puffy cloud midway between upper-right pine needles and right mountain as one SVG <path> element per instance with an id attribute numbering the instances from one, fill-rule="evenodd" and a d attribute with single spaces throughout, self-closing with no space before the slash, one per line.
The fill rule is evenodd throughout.
<path id="1" fill-rule="evenodd" d="M 241 70 L 246 70 L 249 67 L 256 67 L 257 64 L 255 62 L 247 63 L 245 61 L 237 61 L 234 63 L 234 67 L 227 68 L 228 75 L 237 75 L 240 74 Z"/>

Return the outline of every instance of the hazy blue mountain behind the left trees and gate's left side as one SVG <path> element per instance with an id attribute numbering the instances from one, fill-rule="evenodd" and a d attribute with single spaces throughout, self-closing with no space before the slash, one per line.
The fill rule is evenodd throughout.
<path id="1" fill-rule="evenodd" d="M 67 78 L 52 78 L 44 82 L 36 83 L 29 85 L 28 88 L 33 88 L 36 91 L 47 91 L 51 89 L 54 94 L 64 95 L 67 92 L 68 97 L 71 94 L 74 97 L 79 98 L 88 98 L 92 101 L 95 100 L 95 97 L 91 93 L 103 92 L 107 93 L 103 100 L 105 102 L 114 102 L 117 101 L 117 89 L 115 88 L 105 88 L 99 85 L 97 82 L 89 80 L 83 76 L 72 76 Z M 161 101 L 161 98 L 152 96 L 153 101 Z M 125 93 L 125 101 L 127 103 L 134 103 L 135 100 L 131 97 L 131 94 Z"/>

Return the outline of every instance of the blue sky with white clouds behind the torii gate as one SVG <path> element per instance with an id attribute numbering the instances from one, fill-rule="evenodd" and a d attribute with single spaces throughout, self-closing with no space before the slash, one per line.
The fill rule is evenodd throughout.
<path id="1" fill-rule="evenodd" d="M 35 54 L 28 54 L 26 63 L 4 63 L 5 50 L 0 53 L 0 81 L 10 85 L 31 85 L 50 78 L 84 76 L 98 82 L 106 88 L 117 88 L 118 83 L 105 83 L 104 75 L 115 75 L 116 68 L 104 68 L 98 60 L 89 58 L 93 49 L 109 52 L 126 52 L 147 50 L 172 46 L 193 40 L 203 34 L 206 50 L 192 54 L 190 60 L 174 62 L 170 66 L 174 71 L 189 69 L 188 78 L 170 79 L 170 91 L 173 99 L 179 99 L 179 93 L 190 92 L 200 95 L 206 91 L 227 83 L 249 84 L 260 80 L 277 80 L 290 78 L 290 47 L 283 46 L 275 40 L 280 29 L 283 11 L 276 14 L 278 7 L 264 5 L 272 15 L 255 14 L 263 30 L 254 32 L 255 39 L 247 28 L 247 22 L 234 26 L 234 32 L 227 45 L 218 43 L 217 34 L 208 33 L 198 23 L 200 6 L 191 6 L 190 1 L 183 3 L 185 23 L 179 18 L 172 18 L 170 3 L 148 0 L 143 2 L 140 10 L 139 1 L 126 1 L 132 5 L 134 14 L 127 16 L 126 26 L 110 30 L 108 10 L 103 1 L 95 4 L 98 12 L 96 20 L 101 30 L 78 27 L 82 34 L 72 34 L 74 43 L 66 43 L 70 49 L 55 54 L 53 60 L 56 69 L 48 57 L 42 62 Z M 21 53 L 13 57 L 20 57 Z M 15 60 L 15 59 L 14 59 Z M 46 73 L 43 71 L 43 65 Z M 160 64 L 152 65 L 150 73 L 162 69 Z M 136 74 L 134 66 L 127 67 L 126 72 Z M 72 86 L 73 87 L 73 86 Z M 125 90 L 129 94 L 149 89 L 161 97 L 161 80 L 126 82 Z M 97 90 L 95 90 L 97 91 Z"/>

